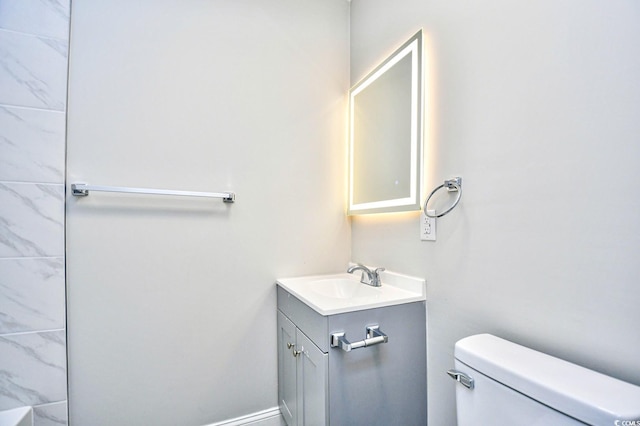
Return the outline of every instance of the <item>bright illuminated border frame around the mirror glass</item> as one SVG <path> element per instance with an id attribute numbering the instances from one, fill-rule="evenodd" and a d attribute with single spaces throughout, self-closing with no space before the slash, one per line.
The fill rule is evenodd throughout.
<path id="1" fill-rule="evenodd" d="M 407 197 L 354 204 L 354 104 L 356 96 L 400 60 L 411 57 L 411 159 L 410 188 Z M 349 90 L 349 200 L 348 215 L 420 210 L 422 184 L 422 30 L 393 52 L 384 62 Z M 355 189 L 357 190 L 357 188 Z"/>

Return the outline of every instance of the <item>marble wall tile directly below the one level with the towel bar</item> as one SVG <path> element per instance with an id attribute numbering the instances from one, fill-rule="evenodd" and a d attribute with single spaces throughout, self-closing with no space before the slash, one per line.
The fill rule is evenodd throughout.
<path id="1" fill-rule="evenodd" d="M 0 334 L 65 327 L 64 261 L 0 259 Z"/>

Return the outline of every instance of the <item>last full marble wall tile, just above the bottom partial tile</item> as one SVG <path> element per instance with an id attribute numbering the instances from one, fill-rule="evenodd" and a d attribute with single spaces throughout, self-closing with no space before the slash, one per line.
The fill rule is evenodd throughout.
<path id="1" fill-rule="evenodd" d="M 0 336 L 0 410 L 66 400 L 65 332 Z"/>

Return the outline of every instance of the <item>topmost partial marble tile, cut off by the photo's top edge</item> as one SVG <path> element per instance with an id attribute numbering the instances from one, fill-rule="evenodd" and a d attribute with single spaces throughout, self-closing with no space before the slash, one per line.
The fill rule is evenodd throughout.
<path id="1" fill-rule="evenodd" d="M 68 39 L 69 0 L 0 0 L 0 28 Z"/>

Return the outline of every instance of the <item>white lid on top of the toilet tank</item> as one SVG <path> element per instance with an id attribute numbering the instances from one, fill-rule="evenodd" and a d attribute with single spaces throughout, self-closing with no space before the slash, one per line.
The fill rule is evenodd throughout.
<path id="1" fill-rule="evenodd" d="M 491 334 L 459 340 L 455 357 L 485 376 L 585 423 L 640 421 L 640 387 Z"/>

